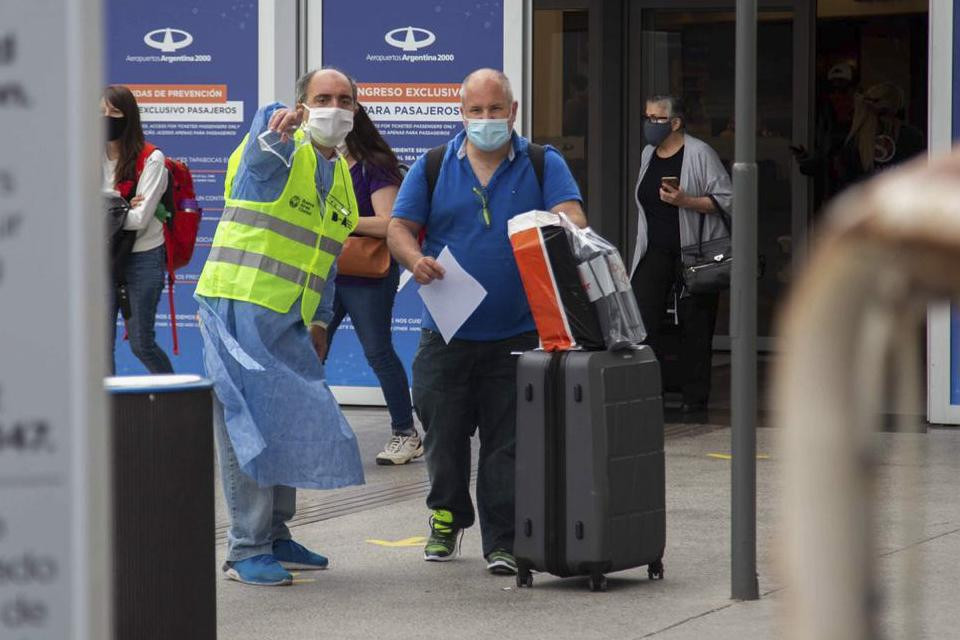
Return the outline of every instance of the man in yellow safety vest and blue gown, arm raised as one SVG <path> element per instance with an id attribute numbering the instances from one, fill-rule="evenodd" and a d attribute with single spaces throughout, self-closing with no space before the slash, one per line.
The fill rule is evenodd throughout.
<path id="1" fill-rule="evenodd" d="M 230 156 L 226 206 L 197 284 L 230 514 L 227 578 L 290 584 L 328 560 L 294 542 L 295 487 L 363 483 L 356 437 L 323 369 L 336 259 L 357 223 L 346 160 L 356 85 L 321 69 L 297 104 L 257 111 Z"/>

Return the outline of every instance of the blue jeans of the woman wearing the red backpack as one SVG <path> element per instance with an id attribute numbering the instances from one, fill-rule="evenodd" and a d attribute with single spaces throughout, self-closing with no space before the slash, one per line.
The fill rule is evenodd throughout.
<path id="1" fill-rule="evenodd" d="M 167 267 L 167 253 L 163 245 L 138 253 L 127 258 L 124 275 L 127 280 L 127 296 L 130 299 L 130 318 L 127 320 L 127 333 L 130 337 L 130 350 L 143 363 L 150 373 L 173 373 L 170 358 L 157 344 L 154 322 L 160 294 L 163 293 Z M 117 311 L 120 304 L 116 292 L 113 293 L 110 306 L 109 343 L 111 347 L 111 371 L 116 371 L 113 352 L 117 341 Z"/>

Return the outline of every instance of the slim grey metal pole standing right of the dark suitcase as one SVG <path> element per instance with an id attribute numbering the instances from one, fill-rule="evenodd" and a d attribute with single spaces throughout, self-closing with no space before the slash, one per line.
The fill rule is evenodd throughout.
<path id="1" fill-rule="evenodd" d="M 733 348 L 732 597 L 757 585 L 757 0 L 737 0 L 734 234 L 730 290 Z"/>

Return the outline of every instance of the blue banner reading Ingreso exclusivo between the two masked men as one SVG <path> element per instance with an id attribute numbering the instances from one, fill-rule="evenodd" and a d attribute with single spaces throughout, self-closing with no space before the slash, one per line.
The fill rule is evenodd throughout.
<path id="1" fill-rule="evenodd" d="M 324 65 L 358 83 L 360 102 L 401 162 L 412 164 L 462 129 L 460 83 L 480 67 L 503 69 L 502 2 L 325 0 Z M 409 273 L 400 280 L 393 342 L 410 373 L 423 306 Z M 337 387 L 378 387 L 349 320 L 327 360 Z"/>

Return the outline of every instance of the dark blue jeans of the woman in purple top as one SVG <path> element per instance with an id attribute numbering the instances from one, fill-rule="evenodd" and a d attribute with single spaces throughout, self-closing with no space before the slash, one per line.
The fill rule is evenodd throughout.
<path id="1" fill-rule="evenodd" d="M 341 285 L 333 303 L 333 319 L 327 328 L 327 336 L 333 343 L 333 334 L 350 315 L 357 338 L 363 347 L 367 363 L 380 381 L 383 397 L 390 411 L 390 423 L 394 433 L 413 432 L 413 408 L 410 405 L 410 385 L 407 372 L 393 348 L 390 325 L 393 323 L 393 301 L 397 297 L 400 269 L 396 265 L 390 273 L 369 285 Z"/>

